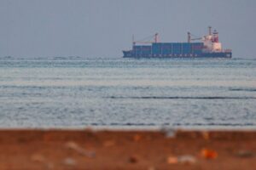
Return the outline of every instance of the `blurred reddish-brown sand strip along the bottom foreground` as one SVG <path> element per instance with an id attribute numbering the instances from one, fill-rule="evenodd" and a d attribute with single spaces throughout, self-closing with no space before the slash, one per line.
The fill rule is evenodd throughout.
<path id="1" fill-rule="evenodd" d="M 0 130 L 0 169 L 256 169 L 256 132 Z"/>

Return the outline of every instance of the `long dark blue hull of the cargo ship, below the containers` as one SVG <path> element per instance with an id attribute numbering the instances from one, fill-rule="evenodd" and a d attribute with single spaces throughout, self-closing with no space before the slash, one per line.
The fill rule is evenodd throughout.
<path id="1" fill-rule="evenodd" d="M 133 54 L 131 51 L 123 51 L 124 58 L 232 58 L 231 52 L 201 53 L 201 54 Z"/>

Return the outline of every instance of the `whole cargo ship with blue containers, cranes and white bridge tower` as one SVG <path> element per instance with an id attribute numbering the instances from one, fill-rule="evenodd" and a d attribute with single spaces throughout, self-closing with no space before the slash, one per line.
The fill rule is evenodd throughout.
<path id="1" fill-rule="evenodd" d="M 187 42 L 160 42 L 159 34 L 148 37 L 151 41 L 134 41 L 132 49 L 124 50 L 124 58 L 231 58 L 232 50 L 222 48 L 218 41 L 218 31 L 212 32 L 208 27 L 208 35 L 192 38 L 188 32 Z M 194 37 L 194 36 L 193 36 Z M 196 41 L 196 42 L 195 42 Z M 198 42 L 200 41 L 200 42 Z"/>

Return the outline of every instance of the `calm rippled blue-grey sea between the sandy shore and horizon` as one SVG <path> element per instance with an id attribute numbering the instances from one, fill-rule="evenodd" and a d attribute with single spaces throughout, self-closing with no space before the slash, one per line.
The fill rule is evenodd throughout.
<path id="1" fill-rule="evenodd" d="M 256 59 L 0 58 L 1 128 L 256 128 Z"/>

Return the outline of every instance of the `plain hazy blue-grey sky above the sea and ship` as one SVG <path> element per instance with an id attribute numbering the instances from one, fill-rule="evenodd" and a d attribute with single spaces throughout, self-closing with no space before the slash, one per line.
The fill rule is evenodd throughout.
<path id="1" fill-rule="evenodd" d="M 256 58 L 255 0 L 0 0 L 0 57 L 114 57 L 160 33 L 185 42 L 216 28 L 234 57 Z"/>

